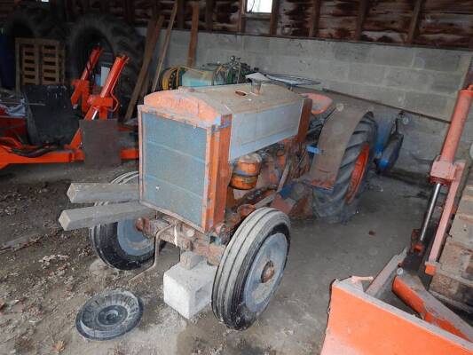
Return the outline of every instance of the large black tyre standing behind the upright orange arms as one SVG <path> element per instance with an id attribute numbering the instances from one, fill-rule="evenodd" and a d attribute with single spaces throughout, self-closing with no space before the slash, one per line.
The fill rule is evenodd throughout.
<path id="1" fill-rule="evenodd" d="M 104 61 L 107 66 L 111 66 L 115 57 L 121 54 L 130 58 L 114 91 L 122 110 L 126 109 L 143 60 L 143 37 L 138 35 L 135 28 L 112 15 L 89 13 L 82 16 L 75 21 L 67 41 L 70 73 L 73 78 L 80 77 L 91 50 L 97 45 L 104 48 L 98 68 Z"/>

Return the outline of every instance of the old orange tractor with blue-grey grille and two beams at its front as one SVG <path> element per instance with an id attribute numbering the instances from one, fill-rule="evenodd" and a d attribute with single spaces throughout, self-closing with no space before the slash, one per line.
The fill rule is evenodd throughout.
<path id="1" fill-rule="evenodd" d="M 138 111 L 139 173 L 71 185 L 71 201 L 99 203 L 63 211 L 61 225 L 91 227 L 92 247 L 119 269 L 157 261 L 160 241 L 204 256 L 217 265 L 217 319 L 250 326 L 280 285 L 290 217 L 355 213 L 373 114 L 261 82 L 154 92 Z"/>

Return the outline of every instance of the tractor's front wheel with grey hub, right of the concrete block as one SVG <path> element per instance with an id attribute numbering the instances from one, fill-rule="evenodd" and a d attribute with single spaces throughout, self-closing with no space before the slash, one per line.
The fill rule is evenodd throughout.
<path id="1" fill-rule="evenodd" d="M 213 312 L 227 327 L 251 326 L 270 303 L 286 266 L 289 227 L 286 214 L 262 208 L 233 234 L 212 290 Z"/>

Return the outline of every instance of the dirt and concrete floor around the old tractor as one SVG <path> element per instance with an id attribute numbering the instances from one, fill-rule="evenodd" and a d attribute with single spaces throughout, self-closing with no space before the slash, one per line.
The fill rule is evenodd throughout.
<path id="1" fill-rule="evenodd" d="M 178 261 L 163 249 L 159 272 L 138 284 L 92 252 L 88 231 L 64 232 L 57 220 L 71 207 L 71 181 L 107 181 L 128 170 L 85 170 L 80 164 L 9 167 L 0 171 L 0 354 L 316 354 L 327 323 L 330 283 L 375 275 L 408 243 L 425 192 L 374 177 L 359 213 L 347 225 L 294 221 L 288 267 L 261 319 L 243 332 L 227 329 L 210 308 L 186 320 L 162 301 L 162 273 Z M 91 296 L 125 288 L 145 304 L 129 334 L 84 339 L 75 316 Z"/>

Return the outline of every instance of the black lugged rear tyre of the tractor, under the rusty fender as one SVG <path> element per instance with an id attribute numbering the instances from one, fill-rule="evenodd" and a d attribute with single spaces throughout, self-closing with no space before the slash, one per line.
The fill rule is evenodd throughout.
<path id="1" fill-rule="evenodd" d="M 356 213 L 359 197 L 367 185 L 367 170 L 373 163 L 376 134 L 377 124 L 373 120 L 373 114 L 367 113 L 355 128 L 346 147 L 333 190 L 327 192 L 313 189 L 314 216 L 328 223 L 345 223 Z M 350 191 L 351 178 L 359 156 L 368 149 L 368 161 L 360 183 L 355 191 Z"/>

